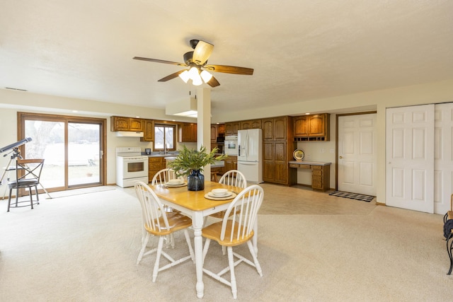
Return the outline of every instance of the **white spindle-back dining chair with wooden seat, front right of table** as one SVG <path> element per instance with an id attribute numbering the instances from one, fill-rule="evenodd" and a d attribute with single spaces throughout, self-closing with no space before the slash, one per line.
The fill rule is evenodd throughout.
<path id="1" fill-rule="evenodd" d="M 231 287 L 233 298 L 237 297 L 236 275 L 234 267 L 241 262 L 256 268 L 256 271 L 263 277 L 263 272 L 258 262 L 258 256 L 252 245 L 254 236 L 254 228 L 258 219 L 258 210 L 263 203 L 264 191 L 259 185 L 251 185 L 240 192 L 229 204 L 228 209 L 224 214 L 222 221 L 212 223 L 210 226 L 202 228 L 202 236 L 206 238 L 203 248 L 203 263 L 205 263 L 207 251 L 210 248 L 211 240 L 217 241 L 222 247 L 226 247 L 228 251 L 228 267 L 222 269 L 219 273 L 214 273 L 210 269 L 203 268 L 203 272 L 210 277 L 216 279 Z M 230 215 L 231 214 L 231 215 Z M 233 251 L 233 247 L 246 243 L 250 251 L 253 261 L 239 255 Z M 238 258 L 236 260 L 234 258 Z M 222 277 L 226 272 L 230 272 L 230 278 Z"/>

